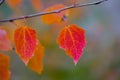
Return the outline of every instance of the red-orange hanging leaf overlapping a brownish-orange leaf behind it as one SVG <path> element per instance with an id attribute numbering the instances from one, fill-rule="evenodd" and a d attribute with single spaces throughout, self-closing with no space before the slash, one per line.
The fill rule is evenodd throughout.
<path id="1" fill-rule="evenodd" d="M 34 56 L 34 51 L 38 45 L 36 31 L 27 26 L 21 26 L 15 30 L 14 44 L 16 53 L 25 64 Z"/>

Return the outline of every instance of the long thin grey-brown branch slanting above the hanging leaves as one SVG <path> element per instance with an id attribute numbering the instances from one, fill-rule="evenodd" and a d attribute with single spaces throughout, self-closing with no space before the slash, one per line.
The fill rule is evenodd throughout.
<path id="1" fill-rule="evenodd" d="M 84 6 L 91 6 L 91 5 L 98 5 L 98 4 L 101 4 L 105 1 L 108 1 L 108 0 L 100 0 L 100 1 L 92 2 L 92 3 L 85 3 L 85 4 L 74 4 L 74 5 L 67 6 L 67 7 L 64 7 L 64 8 L 58 9 L 58 10 L 54 10 L 51 12 L 40 12 L 40 13 L 36 13 L 36 14 L 20 16 L 18 18 L 4 19 L 4 20 L 0 20 L 0 22 L 12 22 L 14 20 L 19 20 L 19 19 L 32 18 L 32 17 L 42 16 L 42 15 L 47 15 L 47 14 L 52 14 L 52 13 L 60 13 L 61 11 L 64 11 L 67 9 L 84 7 Z"/>

